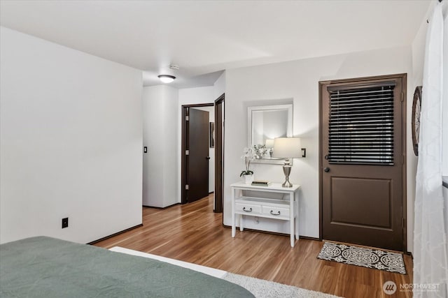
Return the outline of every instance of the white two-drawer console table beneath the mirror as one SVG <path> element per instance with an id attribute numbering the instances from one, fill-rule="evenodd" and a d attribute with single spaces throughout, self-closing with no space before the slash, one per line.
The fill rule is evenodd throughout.
<path id="1" fill-rule="evenodd" d="M 299 193 L 300 185 L 282 187 L 281 184 L 269 186 L 253 186 L 251 184 L 234 183 L 232 188 L 232 237 L 235 237 L 237 228 L 235 217 L 239 215 L 239 230 L 244 230 L 244 216 L 258 216 L 290 221 L 290 241 L 294 247 L 295 239 L 299 239 Z M 243 191 L 259 191 L 263 193 L 280 193 L 282 199 L 257 198 L 243 195 Z M 285 198 L 286 197 L 286 198 Z"/>

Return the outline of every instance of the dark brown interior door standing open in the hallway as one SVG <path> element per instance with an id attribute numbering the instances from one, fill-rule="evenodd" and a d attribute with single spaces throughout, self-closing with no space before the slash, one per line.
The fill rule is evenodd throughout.
<path id="1" fill-rule="evenodd" d="M 187 202 L 194 202 L 209 195 L 209 112 L 190 107 L 187 140 Z"/>

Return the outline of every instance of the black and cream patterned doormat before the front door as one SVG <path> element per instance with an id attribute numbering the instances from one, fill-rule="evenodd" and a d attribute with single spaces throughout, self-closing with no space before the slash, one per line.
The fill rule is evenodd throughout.
<path id="1" fill-rule="evenodd" d="M 325 242 L 318 259 L 406 274 L 401 253 Z"/>

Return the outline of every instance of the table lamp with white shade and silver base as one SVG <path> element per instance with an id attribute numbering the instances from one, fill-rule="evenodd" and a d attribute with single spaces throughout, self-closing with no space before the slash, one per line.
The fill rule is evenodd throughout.
<path id="1" fill-rule="evenodd" d="M 281 184 L 283 187 L 293 187 L 289 181 L 291 172 L 290 158 L 302 157 L 302 149 L 300 147 L 299 137 L 277 137 L 274 139 L 274 152 L 272 157 L 286 158 L 283 165 L 283 173 L 285 174 L 285 182 Z"/>

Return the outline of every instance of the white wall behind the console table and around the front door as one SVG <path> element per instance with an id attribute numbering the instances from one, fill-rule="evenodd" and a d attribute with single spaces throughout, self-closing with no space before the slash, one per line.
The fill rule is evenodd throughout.
<path id="1" fill-rule="evenodd" d="M 224 224 L 231 224 L 229 185 L 240 180 L 239 172 L 244 167 L 239 157 L 242 149 L 247 146 L 246 107 L 251 105 L 251 101 L 260 105 L 263 101 L 272 104 L 272 100 L 293 98 L 293 134 L 302 137 L 302 147 L 307 148 L 307 158 L 295 159 L 290 181 L 302 185 L 300 235 L 318 237 L 318 82 L 396 73 L 408 73 L 408 82 L 412 82 L 410 47 L 226 70 Z M 412 106 L 412 95 L 412 87 L 408 84 L 407 119 L 409 119 L 409 106 Z M 408 130 L 408 140 L 409 137 Z M 407 154 L 409 155 L 411 151 L 412 146 L 408 141 Z M 256 179 L 272 181 L 283 179 L 280 165 L 255 164 L 253 171 Z M 408 191 L 413 188 L 414 182 L 408 181 Z M 409 221 L 410 218 L 408 218 L 408 236 L 413 230 L 413 225 L 409 224 Z M 247 228 L 259 227 L 274 232 L 289 232 L 287 223 L 262 221 L 262 218 L 258 225 L 248 221 Z"/>

